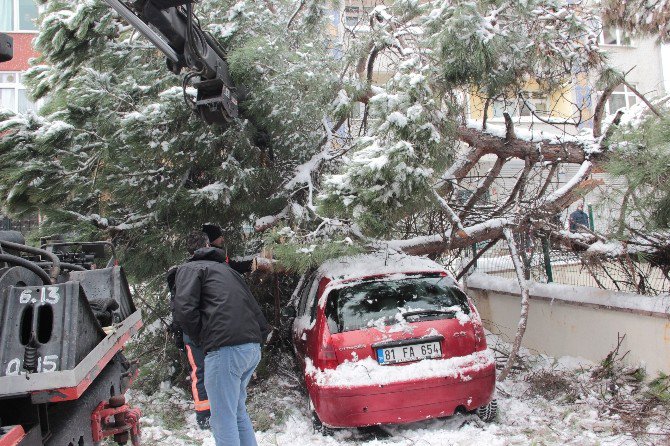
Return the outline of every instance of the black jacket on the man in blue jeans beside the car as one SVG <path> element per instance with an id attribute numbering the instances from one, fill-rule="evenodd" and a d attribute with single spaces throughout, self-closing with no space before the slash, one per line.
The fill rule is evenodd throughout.
<path id="1" fill-rule="evenodd" d="M 205 352 L 228 345 L 262 344 L 268 323 L 244 279 L 218 248 L 202 248 L 177 269 L 175 321 Z"/>

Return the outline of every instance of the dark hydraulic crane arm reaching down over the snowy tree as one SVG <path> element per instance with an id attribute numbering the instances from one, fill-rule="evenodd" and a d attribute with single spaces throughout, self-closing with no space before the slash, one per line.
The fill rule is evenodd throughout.
<path id="1" fill-rule="evenodd" d="M 105 2 L 165 54 L 170 71 L 188 71 L 183 86 L 192 82 L 197 95 L 189 102 L 205 122 L 225 125 L 237 118 L 238 91 L 228 73 L 225 52 L 198 25 L 193 0 Z"/>

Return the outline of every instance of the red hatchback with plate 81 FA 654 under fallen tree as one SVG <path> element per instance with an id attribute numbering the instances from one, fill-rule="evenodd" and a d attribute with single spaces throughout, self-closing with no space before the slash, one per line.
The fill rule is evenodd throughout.
<path id="1" fill-rule="evenodd" d="M 315 427 L 474 412 L 492 421 L 495 361 L 472 301 L 437 263 L 344 257 L 303 276 L 285 316 Z"/>

